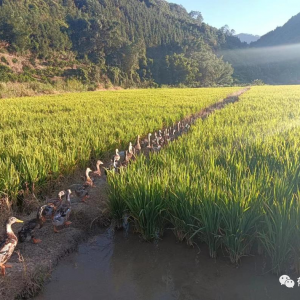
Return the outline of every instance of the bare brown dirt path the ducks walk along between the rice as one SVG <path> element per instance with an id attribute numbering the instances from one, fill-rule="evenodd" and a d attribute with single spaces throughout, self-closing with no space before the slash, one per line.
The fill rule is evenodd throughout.
<path id="1" fill-rule="evenodd" d="M 193 114 L 182 120 L 182 123 L 191 123 L 197 118 L 205 119 L 215 110 L 220 110 L 230 103 L 239 100 L 239 96 L 245 93 L 249 88 L 242 89 L 226 99 L 217 102 L 214 105 Z M 182 132 L 184 134 L 185 131 Z M 178 138 L 178 134 L 175 138 Z M 148 150 L 144 149 L 143 152 Z M 107 165 L 106 162 L 105 165 Z M 59 190 L 67 189 L 74 183 L 82 183 L 80 173 L 73 175 L 65 180 Z M 95 228 L 107 226 L 107 183 L 103 175 L 97 179 L 95 187 L 89 191 L 90 199 L 88 204 L 81 203 L 74 196 L 72 198 L 72 224 L 69 228 L 64 228 L 60 233 L 55 234 L 51 224 L 45 224 L 41 230 L 36 231 L 36 238 L 41 239 L 42 243 L 34 245 L 32 243 L 19 243 L 15 253 L 9 263 L 12 269 L 7 270 L 5 277 L 0 277 L 0 299 L 12 300 L 16 297 L 32 297 L 41 289 L 44 282 L 49 278 L 53 268 L 58 261 L 67 253 L 76 250 L 78 243 L 90 237 L 95 233 Z M 58 191 L 58 190 L 57 190 Z M 56 191 L 56 192 L 57 192 Z M 28 216 L 19 216 L 27 221 L 34 218 L 35 212 Z M 18 232 L 20 226 L 14 225 L 14 232 Z"/>

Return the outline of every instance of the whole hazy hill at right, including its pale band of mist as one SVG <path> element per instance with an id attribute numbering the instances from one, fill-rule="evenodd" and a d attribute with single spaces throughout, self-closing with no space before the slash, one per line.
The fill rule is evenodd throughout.
<path id="1" fill-rule="evenodd" d="M 252 42 L 247 49 L 221 51 L 237 82 L 300 84 L 300 14 Z"/>

